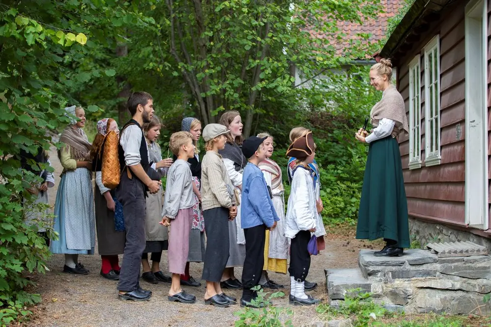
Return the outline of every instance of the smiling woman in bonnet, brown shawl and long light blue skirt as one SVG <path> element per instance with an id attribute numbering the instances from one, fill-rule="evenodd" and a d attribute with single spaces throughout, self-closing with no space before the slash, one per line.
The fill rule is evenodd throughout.
<path id="1" fill-rule="evenodd" d="M 58 239 L 51 242 L 50 251 L 65 254 L 63 272 L 86 275 L 88 270 L 78 258 L 79 254 L 94 254 L 95 247 L 92 163 L 89 161 L 92 145 L 82 130 L 85 126 L 83 108 L 72 106 L 65 110 L 72 124 L 63 130 L 59 139 L 62 146 L 58 158 L 63 172 L 55 201 L 54 230 Z"/>

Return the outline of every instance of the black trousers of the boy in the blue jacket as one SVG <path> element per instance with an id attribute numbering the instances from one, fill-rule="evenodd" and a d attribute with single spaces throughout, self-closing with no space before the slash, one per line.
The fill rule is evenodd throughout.
<path id="1" fill-rule="evenodd" d="M 252 287 L 259 284 L 264 265 L 264 243 L 266 241 L 266 225 L 245 228 L 246 259 L 242 270 L 242 284 L 244 289 L 242 299 L 250 302 L 254 297 Z"/>

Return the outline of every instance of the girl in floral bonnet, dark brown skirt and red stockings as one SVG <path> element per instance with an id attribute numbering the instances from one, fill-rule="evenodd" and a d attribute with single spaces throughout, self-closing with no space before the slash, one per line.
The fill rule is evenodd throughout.
<path id="1" fill-rule="evenodd" d="M 119 135 L 118 124 L 112 118 L 97 122 L 97 135 L 92 143 L 91 158 L 95 172 L 95 222 L 97 230 L 97 249 L 101 255 L 100 275 L 109 280 L 119 280 L 119 258 L 123 254 L 126 242 L 124 230 L 116 230 L 114 222 L 114 190 L 111 191 L 102 183 L 102 161 L 104 159 L 105 137 L 110 131 Z"/>

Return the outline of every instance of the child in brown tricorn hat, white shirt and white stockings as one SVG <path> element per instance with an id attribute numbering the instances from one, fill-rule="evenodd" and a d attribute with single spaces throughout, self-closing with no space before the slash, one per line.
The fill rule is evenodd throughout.
<path id="1" fill-rule="evenodd" d="M 319 302 L 305 294 L 304 281 L 310 268 L 307 244 L 316 231 L 317 209 L 315 188 L 308 164 L 314 161 L 315 144 L 312 132 L 297 138 L 288 148 L 287 156 L 296 158 L 292 187 L 285 218 L 285 236 L 290 238 L 290 303 L 312 305 Z"/>

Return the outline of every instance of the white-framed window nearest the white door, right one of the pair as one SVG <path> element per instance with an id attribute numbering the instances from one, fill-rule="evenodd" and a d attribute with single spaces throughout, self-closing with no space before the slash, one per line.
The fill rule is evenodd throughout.
<path id="1" fill-rule="evenodd" d="M 435 55 L 436 53 L 436 55 Z M 429 56 L 436 58 L 436 72 L 435 65 L 429 62 Z M 430 66 L 431 72 L 430 76 Z M 431 79 L 430 79 L 431 77 Z M 436 77 L 436 78 L 434 78 Z M 435 85 L 436 84 L 436 85 Z M 434 94 L 433 99 L 430 99 L 430 92 Z M 432 101 L 432 103 L 430 103 Z M 432 105 L 431 105 L 432 104 Z M 436 115 L 431 114 L 432 106 Z M 431 130 L 431 124 L 435 123 L 436 129 Z M 432 122 L 433 121 L 433 122 Z M 425 46 L 425 165 L 436 166 L 440 164 L 441 152 L 440 152 L 440 35 L 437 34 L 426 46 Z M 432 142 L 433 141 L 433 142 Z M 432 143 L 436 144 L 435 149 L 432 149 Z M 433 151 L 432 151 L 433 150 Z"/>

